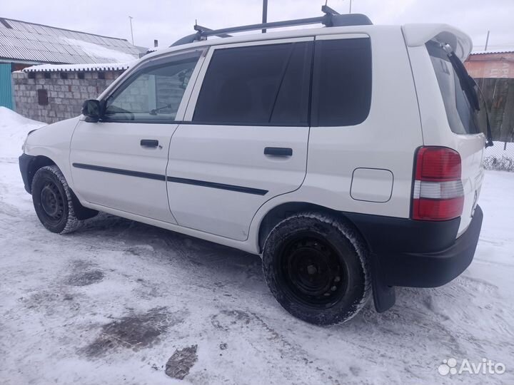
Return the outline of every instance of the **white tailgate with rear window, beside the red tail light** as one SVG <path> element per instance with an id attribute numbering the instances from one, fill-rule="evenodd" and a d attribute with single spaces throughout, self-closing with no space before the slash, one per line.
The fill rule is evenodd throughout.
<path id="1" fill-rule="evenodd" d="M 477 90 L 470 90 L 463 83 L 467 81 L 465 77 L 468 74 L 459 59 L 453 55 L 450 46 L 442 45 L 437 41 L 428 41 L 426 49 L 437 78 L 450 128 L 446 145 L 457 150 L 462 160 L 464 207 L 460 218 L 459 234 L 461 234 L 470 224 L 484 177 L 482 159 L 485 144 L 483 134 L 486 124 L 485 106 L 483 103 L 480 104 Z M 458 62 L 452 63 L 450 55 L 453 55 L 453 60 Z M 479 109 L 476 108 L 477 103 Z M 423 134 L 425 136 L 425 130 Z M 425 143 L 427 144 L 430 145 Z"/>

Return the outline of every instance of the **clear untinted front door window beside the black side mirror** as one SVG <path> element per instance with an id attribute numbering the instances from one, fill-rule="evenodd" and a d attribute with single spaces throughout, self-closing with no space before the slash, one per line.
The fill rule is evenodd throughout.
<path id="1" fill-rule="evenodd" d="M 199 56 L 141 68 L 107 98 L 105 120 L 175 120 Z"/>

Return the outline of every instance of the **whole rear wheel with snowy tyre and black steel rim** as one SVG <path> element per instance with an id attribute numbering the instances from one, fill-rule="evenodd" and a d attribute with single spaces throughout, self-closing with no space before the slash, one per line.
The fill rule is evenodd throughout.
<path id="1" fill-rule="evenodd" d="M 271 230 L 263 272 L 278 303 L 312 324 L 348 321 L 371 294 L 360 237 L 340 220 L 317 212 L 293 215 Z"/>

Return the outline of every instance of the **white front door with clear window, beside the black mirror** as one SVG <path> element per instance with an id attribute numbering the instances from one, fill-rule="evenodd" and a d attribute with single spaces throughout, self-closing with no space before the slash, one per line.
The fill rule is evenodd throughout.
<path id="1" fill-rule="evenodd" d="M 176 223 L 166 195 L 168 150 L 201 53 L 189 51 L 141 63 L 104 99 L 99 122 L 79 121 L 70 161 L 81 198 Z"/>

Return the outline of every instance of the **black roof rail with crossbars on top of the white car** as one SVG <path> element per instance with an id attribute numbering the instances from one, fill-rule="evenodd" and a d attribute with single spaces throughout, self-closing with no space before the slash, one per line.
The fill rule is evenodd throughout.
<path id="1" fill-rule="evenodd" d="M 306 26 L 308 24 L 323 24 L 327 27 L 369 26 L 373 24 L 368 16 L 363 14 L 338 14 L 337 11 L 334 11 L 331 9 L 331 7 L 326 5 L 321 6 L 321 11 L 324 14 L 323 16 L 310 17 L 307 19 L 272 21 L 271 23 L 250 24 L 248 26 L 235 26 L 222 29 L 209 29 L 204 26 L 195 24 L 194 29 L 196 34 L 184 36 L 182 39 L 178 39 L 175 43 L 171 44 L 171 46 L 181 46 L 182 44 L 193 43 L 194 41 L 206 40 L 208 36 L 218 36 L 225 38 L 231 36 L 230 34 L 234 32 L 256 31 L 257 29 L 281 28 L 286 26 Z"/>

